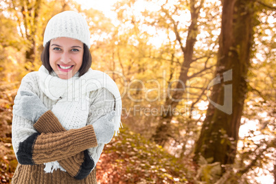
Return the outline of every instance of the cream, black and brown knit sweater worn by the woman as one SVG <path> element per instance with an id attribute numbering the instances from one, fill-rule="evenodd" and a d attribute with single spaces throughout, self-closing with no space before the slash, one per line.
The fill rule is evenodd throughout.
<path id="1" fill-rule="evenodd" d="M 49 110 L 56 104 L 56 101 L 50 100 L 41 91 L 36 71 L 28 73 L 23 78 L 19 91 L 32 91 L 40 97 Z M 115 97 L 106 89 L 98 89 L 91 92 L 89 102 L 91 104 L 89 104 L 87 126 L 76 130 L 62 129 L 58 119 L 51 111 L 47 111 L 41 119 L 38 119 L 36 128 L 34 128 L 33 122 L 14 115 L 12 145 L 19 165 L 16 168 L 13 183 L 30 183 L 31 181 L 34 183 L 68 183 L 69 181 L 69 183 L 96 183 L 95 163 L 100 158 L 104 144 L 97 144 L 93 126 L 89 125 L 114 110 Z M 97 111 L 97 109 L 102 109 L 102 111 Z M 52 122 L 51 128 L 47 128 L 47 124 L 45 124 L 49 121 Z M 29 151 L 27 148 L 30 148 Z M 25 155 L 30 158 L 21 159 L 22 155 L 23 158 L 26 158 Z M 57 170 L 53 173 L 45 173 L 43 163 L 50 161 L 58 161 L 67 172 Z M 82 168 L 87 167 L 84 164 L 85 161 L 93 163 L 92 166 L 89 165 L 90 168 L 85 169 L 85 172 L 93 169 L 90 170 L 90 174 L 87 173 L 88 175 L 80 173 L 82 170 L 78 168 L 78 165 Z M 75 170 L 70 169 L 72 167 L 76 167 Z"/>

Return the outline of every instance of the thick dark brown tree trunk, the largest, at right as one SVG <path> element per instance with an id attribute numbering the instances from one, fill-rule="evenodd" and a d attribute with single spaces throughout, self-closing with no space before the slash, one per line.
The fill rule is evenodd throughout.
<path id="1" fill-rule="evenodd" d="M 222 1 L 218 63 L 207 115 L 196 142 L 200 155 L 211 162 L 231 164 L 237 150 L 240 119 L 247 92 L 246 76 L 253 45 L 252 1 Z M 216 107 L 215 107 L 216 106 Z"/>

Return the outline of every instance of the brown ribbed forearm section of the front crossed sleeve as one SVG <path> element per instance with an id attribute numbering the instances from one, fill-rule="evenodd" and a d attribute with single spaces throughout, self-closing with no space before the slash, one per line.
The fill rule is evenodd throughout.
<path id="1" fill-rule="evenodd" d="M 95 146 L 97 139 L 92 125 L 61 133 L 42 133 L 34 144 L 33 161 L 36 164 L 58 161 Z"/>

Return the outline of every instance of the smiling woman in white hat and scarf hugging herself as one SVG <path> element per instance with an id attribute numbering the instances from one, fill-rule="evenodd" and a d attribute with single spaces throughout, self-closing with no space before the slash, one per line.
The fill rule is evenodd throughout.
<path id="1" fill-rule="evenodd" d="M 14 99 L 12 183 L 97 183 L 104 143 L 119 132 L 122 100 L 115 82 L 91 67 L 90 32 L 77 12 L 53 16 L 43 65 L 28 73 Z"/>

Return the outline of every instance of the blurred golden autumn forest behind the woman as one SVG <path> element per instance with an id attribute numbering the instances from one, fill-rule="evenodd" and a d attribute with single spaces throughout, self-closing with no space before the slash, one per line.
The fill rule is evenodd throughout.
<path id="1" fill-rule="evenodd" d="M 106 16 L 71 0 L 0 1 L 0 183 L 17 164 L 14 96 L 64 10 L 86 17 L 92 68 L 122 94 L 99 183 L 276 183 L 275 1 L 113 3 Z"/>

